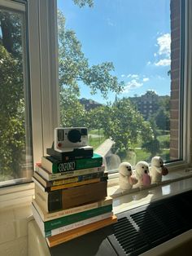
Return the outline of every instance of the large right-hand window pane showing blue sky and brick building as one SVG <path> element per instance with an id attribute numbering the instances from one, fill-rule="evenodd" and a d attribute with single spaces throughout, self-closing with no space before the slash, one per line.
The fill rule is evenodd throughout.
<path id="1" fill-rule="evenodd" d="M 62 126 L 87 126 L 107 170 L 178 160 L 178 0 L 58 0 Z"/>

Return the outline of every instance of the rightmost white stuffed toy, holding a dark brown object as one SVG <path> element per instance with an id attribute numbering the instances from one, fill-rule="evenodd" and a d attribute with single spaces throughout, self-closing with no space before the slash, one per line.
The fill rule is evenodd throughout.
<path id="1" fill-rule="evenodd" d="M 164 161 L 161 157 L 153 157 L 151 160 L 151 183 L 160 183 L 162 175 L 168 174 L 168 169 L 164 166 Z"/>

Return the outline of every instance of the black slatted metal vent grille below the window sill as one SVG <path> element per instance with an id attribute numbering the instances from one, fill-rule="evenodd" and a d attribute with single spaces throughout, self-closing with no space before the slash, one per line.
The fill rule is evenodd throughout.
<path id="1" fill-rule="evenodd" d="M 192 227 L 192 191 L 118 214 L 109 241 L 118 255 L 138 255 Z"/>

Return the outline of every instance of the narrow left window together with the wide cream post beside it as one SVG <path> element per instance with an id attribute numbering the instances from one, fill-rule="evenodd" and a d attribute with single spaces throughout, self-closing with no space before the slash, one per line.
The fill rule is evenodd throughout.
<path id="1" fill-rule="evenodd" d="M 31 181 L 58 126 L 55 10 L 54 1 L 0 2 L 0 187 Z"/>

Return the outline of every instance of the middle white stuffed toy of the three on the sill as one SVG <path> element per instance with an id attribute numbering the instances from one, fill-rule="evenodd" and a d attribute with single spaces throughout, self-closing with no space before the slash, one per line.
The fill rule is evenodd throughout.
<path id="1" fill-rule="evenodd" d="M 135 172 L 138 179 L 138 187 L 147 187 L 151 184 L 151 176 L 149 175 L 149 165 L 146 161 L 138 161 L 135 166 Z"/>

